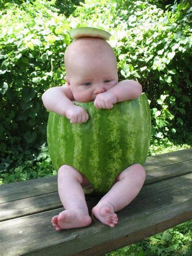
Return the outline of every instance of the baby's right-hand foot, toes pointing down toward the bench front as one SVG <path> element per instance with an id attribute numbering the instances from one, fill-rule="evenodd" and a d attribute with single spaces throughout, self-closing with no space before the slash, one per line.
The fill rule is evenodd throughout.
<path id="1" fill-rule="evenodd" d="M 118 222 L 117 214 L 114 213 L 114 208 L 110 203 L 98 203 L 92 209 L 92 213 L 100 222 L 111 228 L 114 228 Z"/>

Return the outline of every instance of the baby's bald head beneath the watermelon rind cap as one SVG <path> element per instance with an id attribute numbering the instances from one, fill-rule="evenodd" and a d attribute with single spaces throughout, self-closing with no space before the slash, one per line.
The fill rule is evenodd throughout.
<path id="1" fill-rule="evenodd" d="M 118 83 L 115 53 L 101 38 L 73 41 L 65 51 L 64 61 L 66 83 L 79 102 L 94 100 Z"/>

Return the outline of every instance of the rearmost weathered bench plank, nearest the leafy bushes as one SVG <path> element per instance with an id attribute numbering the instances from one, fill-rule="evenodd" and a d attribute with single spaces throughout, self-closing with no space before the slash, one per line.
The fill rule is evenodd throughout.
<path id="1" fill-rule="evenodd" d="M 145 170 L 147 171 L 147 173 L 148 171 L 153 172 L 154 169 L 161 168 L 163 166 L 169 166 L 171 164 L 186 162 L 188 160 L 192 160 L 192 149 L 183 149 L 162 155 L 149 156 L 145 163 Z M 175 173 L 176 176 L 179 175 L 180 171 L 177 169 L 177 172 L 178 173 Z M 158 170 L 156 173 L 158 173 Z M 184 173 L 185 170 L 183 170 L 182 174 Z M 159 178 L 156 180 L 154 179 L 154 177 L 154 175 L 153 179 L 148 179 L 147 177 L 146 184 L 150 183 L 149 180 L 153 180 L 153 182 L 158 182 L 160 180 Z M 158 177 L 160 176 L 158 175 Z M 43 195 L 56 191 L 58 191 L 57 176 L 5 184 L 0 186 L 0 203 L 19 200 L 22 198 L 28 198 L 32 196 Z"/>

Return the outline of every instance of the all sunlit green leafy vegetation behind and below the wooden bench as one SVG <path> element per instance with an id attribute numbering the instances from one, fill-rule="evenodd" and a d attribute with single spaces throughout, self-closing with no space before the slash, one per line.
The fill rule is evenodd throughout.
<path id="1" fill-rule="evenodd" d="M 0 182 L 55 174 L 41 95 L 64 83 L 68 31 L 79 26 L 109 31 L 119 80 L 142 84 L 152 116 L 149 155 L 190 147 L 191 21 L 189 0 L 1 0 Z M 190 225 L 124 253 L 190 255 Z"/>

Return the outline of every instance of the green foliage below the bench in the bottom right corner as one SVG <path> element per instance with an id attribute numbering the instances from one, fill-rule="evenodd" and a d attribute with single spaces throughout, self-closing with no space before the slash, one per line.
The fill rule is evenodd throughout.
<path id="1" fill-rule="evenodd" d="M 190 256 L 192 255 L 192 233 L 190 231 L 192 231 L 192 221 L 105 254 L 105 256 Z"/>

